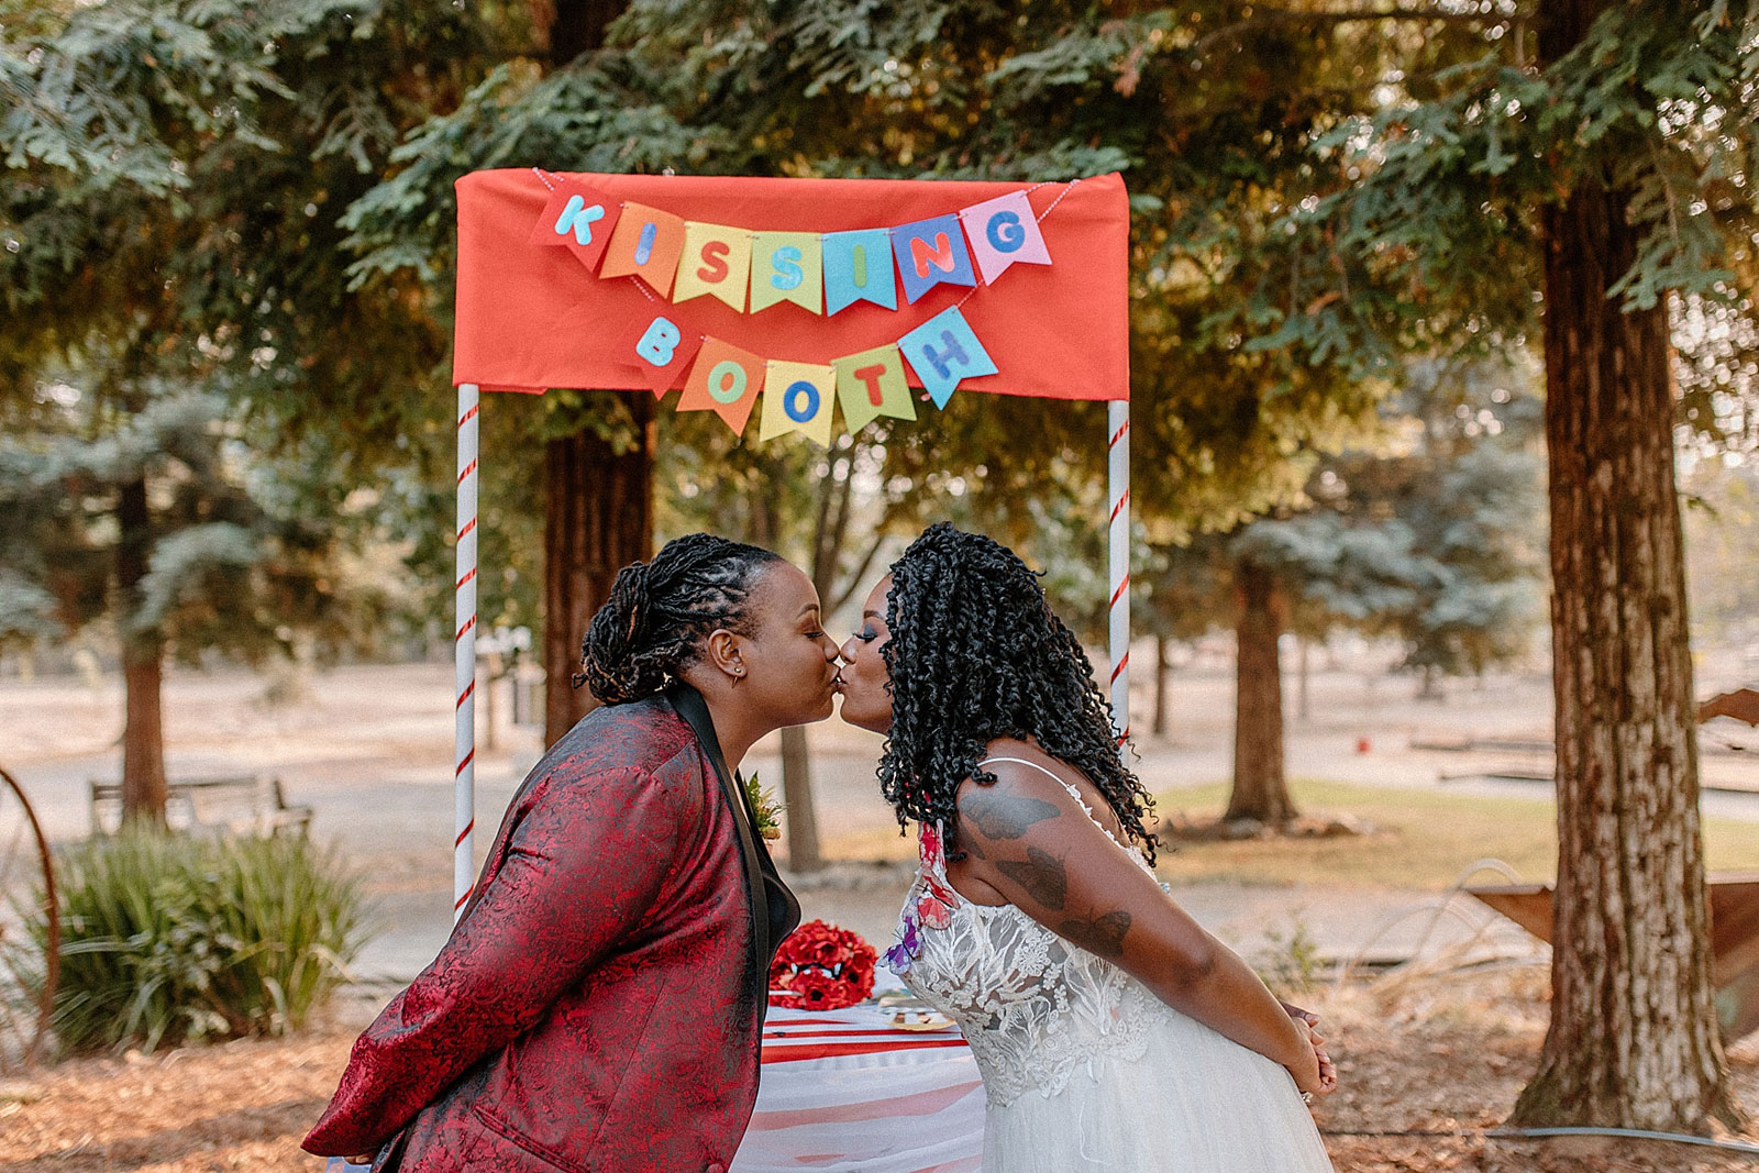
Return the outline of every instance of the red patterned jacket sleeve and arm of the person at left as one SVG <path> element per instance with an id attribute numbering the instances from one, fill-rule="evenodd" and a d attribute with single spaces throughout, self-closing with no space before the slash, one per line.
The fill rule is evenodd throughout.
<path id="1" fill-rule="evenodd" d="M 304 1148 L 376 1148 L 540 1022 L 654 906 L 686 825 L 677 793 L 639 770 L 545 779 L 477 906 L 355 1041 Z"/>

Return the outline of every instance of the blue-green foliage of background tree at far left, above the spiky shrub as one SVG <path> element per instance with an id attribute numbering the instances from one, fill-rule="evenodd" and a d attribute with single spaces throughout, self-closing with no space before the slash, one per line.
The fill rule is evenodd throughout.
<path id="1" fill-rule="evenodd" d="M 0 531 L 0 640 L 114 623 L 192 665 L 209 652 L 260 663 L 306 645 L 362 645 L 385 614 L 385 587 L 348 568 L 371 521 L 313 508 L 338 492 L 324 484 L 322 448 L 253 452 L 223 397 L 144 387 L 141 410 L 121 413 L 58 382 L 53 413 L 0 457 L 11 519 Z M 132 482 L 146 484 L 146 575 L 121 593 L 116 510 Z"/>

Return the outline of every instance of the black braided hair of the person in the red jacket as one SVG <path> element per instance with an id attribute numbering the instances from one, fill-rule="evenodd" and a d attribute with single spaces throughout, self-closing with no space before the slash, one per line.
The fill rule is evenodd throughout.
<path id="1" fill-rule="evenodd" d="M 607 705 L 653 696 L 695 663 L 709 631 L 749 635 L 753 580 L 779 561 L 758 545 L 688 533 L 651 561 L 630 563 L 586 630 L 573 686 L 586 684 Z"/>

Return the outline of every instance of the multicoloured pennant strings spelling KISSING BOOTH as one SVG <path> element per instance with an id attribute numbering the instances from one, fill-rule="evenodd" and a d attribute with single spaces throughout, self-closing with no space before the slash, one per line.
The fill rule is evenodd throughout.
<path id="1" fill-rule="evenodd" d="M 674 306 L 714 297 L 753 315 L 783 302 L 821 317 L 860 302 L 897 311 L 899 285 L 906 304 L 939 285 L 971 287 L 969 299 L 980 280 L 994 285 L 1015 264 L 1050 264 L 1043 216 L 1033 213 L 1027 188 L 913 223 L 820 234 L 698 223 L 565 176 L 538 171 L 538 178 L 551 199 L 531 229 L 533 244 L 566 248 L 600 280 L 635 278 L 644 294 Z M 850 431 L 881 415 L 916 419 L 904 362 L 936 408 L 960 380 L 997 373 L 959 304 L 830 362 L 756 355 L 693 334 L 675 310 L 635 318 L 610 345 L 614 361 L 640 371 L 656 396 L 682 382 L 679 412 L 714 412 L 744 434 L 762 394 L 760 440 L 800 433 L 828 447 L 837 408 Z"/>

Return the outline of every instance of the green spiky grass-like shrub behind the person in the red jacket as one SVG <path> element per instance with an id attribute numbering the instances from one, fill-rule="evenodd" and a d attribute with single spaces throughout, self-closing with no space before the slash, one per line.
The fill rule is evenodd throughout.
<path id="1" fill-rule="evenodd" d="M 130 828 L 62 853 L 56 885 L 69 1050 L 296 1031 L 364 941 L 361 876 L 304 835 Z"/>

